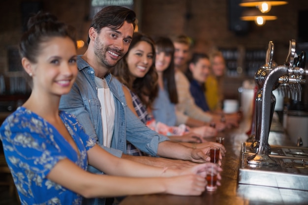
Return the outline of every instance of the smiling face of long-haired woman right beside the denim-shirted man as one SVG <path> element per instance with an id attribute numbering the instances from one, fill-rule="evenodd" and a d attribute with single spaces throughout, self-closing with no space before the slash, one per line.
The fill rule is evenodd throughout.
<path id="1" fill-rule="evenodd" d="M 143 78 L 154 62 L 154 53 L 150 43 L 138 42 L 130 49 L 126 62 L 130 75 L 133 78 Z"/>

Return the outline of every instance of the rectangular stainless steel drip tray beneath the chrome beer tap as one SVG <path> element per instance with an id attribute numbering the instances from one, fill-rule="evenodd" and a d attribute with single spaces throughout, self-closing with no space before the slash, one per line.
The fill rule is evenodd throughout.
<path id="1" fill-rule="evenodd" d="M 253 167 L 247 163 L 251 143 L 243 144 L 238 182 L 278 188 L 308 190 L 308 148 L 271 146 L 277 166 Z M 248 151 L 247 151 L 248 150 Z"/>

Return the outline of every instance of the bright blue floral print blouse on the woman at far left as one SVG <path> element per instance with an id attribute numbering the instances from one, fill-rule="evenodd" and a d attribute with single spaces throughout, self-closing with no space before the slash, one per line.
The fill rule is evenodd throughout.
<path id="1" fill-rule="evenodd" d="M 64 111 L 59 115 L 79 154 L 53 125 L 24 107 L 7 117 L 0 127 L 5 159 L 23 205 L 80 205 L 82 202 L 82 196 L 46 177 L 64 158 L 87 170 L 87 150 L 95 144 L 76 117 Z"/>

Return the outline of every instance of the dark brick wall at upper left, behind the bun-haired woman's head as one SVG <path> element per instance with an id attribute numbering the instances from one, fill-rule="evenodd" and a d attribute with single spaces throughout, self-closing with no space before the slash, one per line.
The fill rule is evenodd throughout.
<path id="1" fill-rule="evenodd" d="M 77 29 L 77 37 L 87 39 L 90 21 L 89 0 L 1 0 L 0 1 L 0 74 L 8 71 L 7 48 L 18 47 L 23 32 L 22 3 L 41 2 L 43 11 L 49 11 Z M 78 51 L 82 54 L 85 51 Z"/>

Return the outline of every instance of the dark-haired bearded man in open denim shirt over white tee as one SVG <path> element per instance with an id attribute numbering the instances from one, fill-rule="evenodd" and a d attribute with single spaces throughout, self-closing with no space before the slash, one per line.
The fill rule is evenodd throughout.
<path id="1" fill-rule="evenodd" d="M 206 162 L 209 160 L 205 154 L 208 152 L 208 147 L 196 149 L 195 145 L 192 146 L 189 143 L 183 145 L 171 142 L 167 137 L 146 127 L 129 110 L 122 84 L 110 74 L 110 68 L 114 67 L 128 50 L 135 29 L 134 22 L 135 13 L 121 6 L 107 6 L 95 15 L 89 29 L 88 49 L 77 59 L 78 77 L 70 93 L 62 95 L 60 109 L 74 114 L 86 133 L 95 139 L 98 145 L 116 156 L 154 166 L 170 167 L 177 163 L 182 163 L 180 165 L 182 167 L 190 166 L 191 162 L 188 161 L 126 155 L 127 140 L 151 156 Z M 107 105 L 107 108 L 114 110 L 114 116 L 112 116 L 114 120 L 108 122 L 113 127 L 108 146 L 105 146 L 108 142 L 104 139 L 106 136 L 103 136 L 106 130 L 103 129 L 105 122 L 102 120 L 102 112 L 108 113 L 109 110 L 103 110 L 102 101 L 98 96 L 97 79 L 103 80 L 108 91 L 110 89 L 113 105 Z M 108 121 L 110 118 L 106 119 Z M 223 146 L 222 148 L 224 149 Z M 99 173 L 93 167 L 88 169 L 92 173 Z M 95 202 L 88 204 L 98 203 L 105 202 L 103 199 L 95 199 Z"/>

